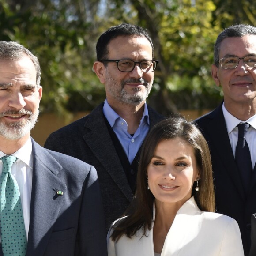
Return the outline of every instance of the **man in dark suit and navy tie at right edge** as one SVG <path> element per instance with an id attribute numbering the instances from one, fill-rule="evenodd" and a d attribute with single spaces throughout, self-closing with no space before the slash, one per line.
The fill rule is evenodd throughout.
<path id="1" fill-rule="evenodd" d="M 238 222 L 248 255 L 256 212 L 256 27 L 234 25 L 220 33 L 214 61 L 212 77 L 224 102 L 196 123 L 211 150 L 216 211 Z"/>

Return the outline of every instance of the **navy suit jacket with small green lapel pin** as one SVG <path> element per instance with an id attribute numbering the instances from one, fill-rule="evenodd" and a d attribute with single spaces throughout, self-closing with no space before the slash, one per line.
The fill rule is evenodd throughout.
<path id="1" fill-rule="evenodd" d="M 107 256 L 97 173 L 32 139 L 33 177 L 26 256 Z M 63 195 L 56 192 L 61 190 Z M 3 256 L 0 246 L 0 256 Z"/>

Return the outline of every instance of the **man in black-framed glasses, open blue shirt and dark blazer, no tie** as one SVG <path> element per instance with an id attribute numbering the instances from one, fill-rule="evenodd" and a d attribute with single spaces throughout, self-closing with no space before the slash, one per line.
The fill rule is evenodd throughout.
<path id="1" fill-rule="evenodd" d="M 45 147 L 97 169 L 108 231 L 133 198 L 139 148 L 163 117 L 146 104 L 158 61 L 145 30 L 131 24 L 111 27 L 98 39 L 96 51 L 94 71 L 105 86 L 105 102 L 53 132 Z"/>

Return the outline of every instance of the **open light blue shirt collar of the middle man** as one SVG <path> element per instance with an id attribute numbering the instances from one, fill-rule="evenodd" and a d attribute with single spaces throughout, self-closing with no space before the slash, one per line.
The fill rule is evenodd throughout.
<path id="1" fill-rule="evenodd" d="M 104 106 L 103 106 L 103 113 L 104 116 L 106 117 L 106 119 L 108 120 L 110 126 L 113 128 L 113 126 L 115 125 L 115 122 L 118 118 L 122 118 L 120 117 L 109 105 L 107 99 L 104 102 Z M 140 123 L 146 118 L 147 120 L 147 124 L 149 125 L 149 116 L 148 116 L 148 109 L 147 109 L 147 104 L 145 102 L 144 104 L 144 112 L 143 112 L 143 116 L 141 118 Z"/>

